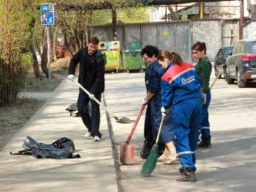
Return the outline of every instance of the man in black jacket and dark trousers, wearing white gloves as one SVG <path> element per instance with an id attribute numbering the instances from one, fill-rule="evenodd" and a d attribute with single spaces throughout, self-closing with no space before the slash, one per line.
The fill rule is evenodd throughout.
<path id="1" fill-rule="evenodd" d="M 87 47 L 80 49 L 69 63 L 68 79 L 73 81 L 76 66 L 79 64 L 78 82 L 86 88 L 91 95 L 88 96 L 79 88 L 77 108 L 79 114 L 88 129 L 85 138 L 93 138 L 93 141 L 101 140 L 99 132 L 100 112 L 99 105 L 90 98 L 101 101 L 101 93 L 104 92 L 105 62 L 101 51 L 98 51 L 99 39 L 92 36 Z M 88 103 L 91 102 L 91 115 L 88 112 Z"/>

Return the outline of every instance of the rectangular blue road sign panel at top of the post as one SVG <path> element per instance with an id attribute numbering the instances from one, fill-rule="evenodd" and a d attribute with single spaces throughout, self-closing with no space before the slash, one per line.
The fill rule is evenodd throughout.
<path id="1" fill-rule="evenodd" d="M 54 24 L 54 4 L 41 4 L 41 23 L 43 25 Z"/>

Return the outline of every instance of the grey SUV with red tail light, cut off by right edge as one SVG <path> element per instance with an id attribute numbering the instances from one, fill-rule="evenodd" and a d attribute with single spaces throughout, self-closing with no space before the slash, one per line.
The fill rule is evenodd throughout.
<path id="1" fill-rule="evenodd" d="M 226 60 L 225 79 L 227 84 L 237 81 L 239 88 L 256 80 L 256 40 L 240 40 Z"/>

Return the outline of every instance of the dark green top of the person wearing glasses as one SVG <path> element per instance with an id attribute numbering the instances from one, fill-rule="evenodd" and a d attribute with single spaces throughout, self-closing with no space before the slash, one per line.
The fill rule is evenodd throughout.
<path id="1" fill-rule="evenodd" d="M 196 72 L 201 79 L 203 93 L 210 93 L 209 81 L 212 73 L 212 63 L 208 57 L 204 57 L 199 59 L 199 62 L 194 67 L 196 68 Z"/>

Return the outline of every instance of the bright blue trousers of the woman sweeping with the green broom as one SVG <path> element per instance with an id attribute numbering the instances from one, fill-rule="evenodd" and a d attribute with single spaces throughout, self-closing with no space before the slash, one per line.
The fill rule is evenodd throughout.
<path id="1" fill-rule="evenodd" d="M 176 135 L 176 151 L 183 168 L 196 170 L 196 146 L 200 128 L 202 99 L 194 98 L 175 104 L 172 122 Z"/>

